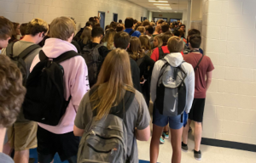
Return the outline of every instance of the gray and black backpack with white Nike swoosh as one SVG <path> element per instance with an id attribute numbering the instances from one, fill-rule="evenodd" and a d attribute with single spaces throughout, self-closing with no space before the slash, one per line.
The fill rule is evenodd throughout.
<path id="1" fill-rule="evenodd" d="M 166 64 L 163 65 L 160 70 L 155 106 L 160 111 L 161 115 L 183 115 L 187 97 L 184 80 L 187 75 L 181 68 L 181 65 L 172 67 L 172 65 L 166 61 Z"/>

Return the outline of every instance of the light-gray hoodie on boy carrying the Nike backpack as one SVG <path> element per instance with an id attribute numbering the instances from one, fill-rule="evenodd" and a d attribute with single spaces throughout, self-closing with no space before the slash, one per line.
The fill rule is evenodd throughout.
<path id="1" fill-rule="evenodd" d="M 190 65 L 187 62 L 183 62 L 183 55 L 182 53 L 169 53 L 164 58 L 165 60 L 158 60 L 154 64 L 154 69 L 152 72 L 152 78 L 151 78 L 151 100 L 154 103 L 154 100 L 156 98 L 156 87 L 157 82 L 159 80 L 160 70 L 163 67 L 163 65 L 166 64 L 166 61 L 172 65 L 172 67 L 178 67 L 181 65 L 181 68 L 184 70 L 184 72 L 187 74 L 187 77 L 185 78 L 184 82 L 187 89 L 187 100 L 186 100 L 186 106 L 185 111 L 186 113 L 189 113 L 193 100 L 194 100 L 194 92 L 195 92 L 195 73 L 192 65 Z"/>

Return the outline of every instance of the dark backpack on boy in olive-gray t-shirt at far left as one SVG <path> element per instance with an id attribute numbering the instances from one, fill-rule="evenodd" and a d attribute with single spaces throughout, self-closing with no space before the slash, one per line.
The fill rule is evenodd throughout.
<path id="1" fill-rule="evenodd" d="M 23 86 L 26 86 L 26 79 L 28 77 L 28 74 L 27 74 L 26 64 L 25 64 L 24 59 L 26 59 L 27 55 L 32 53 L 32 51 L 36 50 L 37 48 L 41 48 L 41 47 L 37 44 L 33 44 L 30 47 L 23 50 L 23 52 L 21 52 L 18 56 L 14 56 L 14 53 L 13 53 L 14 44 L 15 44 L 15 42 L 12 42 L 8 45 L 8 47 L 6 48 L 6 55 L 9 56 L 9 58 L 20 69 L 20 72 L 22 74 L 22 84 L 23 84 Z"/>

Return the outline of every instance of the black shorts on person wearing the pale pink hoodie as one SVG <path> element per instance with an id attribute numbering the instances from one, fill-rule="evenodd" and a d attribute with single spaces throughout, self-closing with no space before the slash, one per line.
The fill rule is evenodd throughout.
<path id="1" fill-rule="evenodd" d="M 60 155 L 61 161 L 78 155 L 79 141 L 73 132 L 55 134 L 38 126 L 38 162 L 51 162 L 55 153 Z"/>

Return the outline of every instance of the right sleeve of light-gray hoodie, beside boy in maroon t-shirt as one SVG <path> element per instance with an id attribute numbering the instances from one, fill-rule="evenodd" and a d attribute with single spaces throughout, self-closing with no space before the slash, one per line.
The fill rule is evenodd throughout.
<path id="1" fill-rule="evenodd" d="M 192 65 L 189 65 L 188 76 L 187 76 L 187 104 L 185 107 L 186 113 L 189 113 L 194 100 L 195 94 L 195 72 Z"/>

